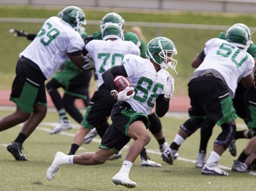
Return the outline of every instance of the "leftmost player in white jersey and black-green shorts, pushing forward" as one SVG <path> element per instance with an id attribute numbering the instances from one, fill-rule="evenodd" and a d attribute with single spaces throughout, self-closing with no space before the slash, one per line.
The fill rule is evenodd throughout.
<path id="1" fill-rule="evenodd" d="M 10 94 L 16 111 L 0 120 L 0 131 L 24 122 L 18 137 L 7 146 L 16 160 L 27 160 L 23 143 L 46 116 L 44 82 L 68 58 L 80 69 L 87 65 L 82 54 L 85 43 L 78 32 L 81 24 L 86 24 L 83 10 L 66 7 L 60 18 L 48 18 L 31 44 L 19 54 Z"/>

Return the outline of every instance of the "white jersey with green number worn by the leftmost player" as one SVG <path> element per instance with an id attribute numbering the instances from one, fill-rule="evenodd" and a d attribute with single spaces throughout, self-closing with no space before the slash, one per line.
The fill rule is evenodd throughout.
<path id="1" fill-rule="evenodd" d="M 44 22 L 38 35 L 19 56 L 32 60 L 48 79 L 68 60 L 67 53 L 83 50 L 84 46 L 81 35 L 70 24 L 53 16 Z"/>

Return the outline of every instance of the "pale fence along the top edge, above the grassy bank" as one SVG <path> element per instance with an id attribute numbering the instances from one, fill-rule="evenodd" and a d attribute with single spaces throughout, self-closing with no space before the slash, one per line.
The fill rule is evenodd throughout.
<path id="1" fill-rule="evenodd" d="M 129 10 L 256 13 L 256 0 L 0 0 L 0 5 L 113 7 Z"/>

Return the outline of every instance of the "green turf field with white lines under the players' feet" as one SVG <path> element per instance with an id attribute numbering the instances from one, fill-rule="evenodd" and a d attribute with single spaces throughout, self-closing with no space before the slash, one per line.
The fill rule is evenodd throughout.
<path id="1" fill-rule="evenodd" d="M 1 109 L 0 116 L 9 114 L 11 110 Z M 165 137 L 170 143 L 179 125 L 186 120 L 186 114 L 169 114 L 162 118 Z M 1 169 L 1 188 L 0 190 L 128 190 L 122 186 L 115 186 L 111 178 L 117 173 L 122 165 L 127 147 L 122 150 L 123 157 L 119 160 L 106 161 L 105 164 L 96 166 L 64 165 L 53 179 L 46 179 L 46 170 L 51 165 L 54 154 L 57 151 L 68 153 L 72 143 L 72 137 L 79 128 L 79 125 L 72 121 L 74 128 L 57 135 L 50 135 L 48 131 L 53 128 L 57 122 L 57 113 L 49 109 L 46 118 L 25 141 L 24 154 L 29 161 L 16 161 L 14 157 L 6 150 L 6 145 L 13 141 L 18 135 L 21 126 L 15 126 L 7 131 L 0 133 L 0 169 Z M 243 128 L 244 124 L 238 120 L 238 129 Z M 208 145 L 208 154 L 212 150 L 212 143 L 220 128 L 214 128 Z M 77 154 L 83 152 L 94 152 L 98 148 L 100 138 L 97 136 L 94 141 L 84 144 Z M 238 154 L 246 144 L 246 140 L 237 141 Z M 152 137 L 152 141 L 147 145 L 147 152 L 150 158 L 162 164 L 161 168 L 141 167 L 141 160 L 137 158 L 130 171 L 130 179 L 137 182 L 134 190 L 254 190 L 255 177 L 244 173 L 235 173 L 230 171 L 233 160 L 236 158 L 226 151 L 219 164 L 223 165 L 225 170 L 231 176 L 208 176 L 201 175 L 200 169 L 195 168 L 195 159 L 199 147 L 199 131 L 189 137 L 180 147 L 180 158 L 175 160 L 172 166 L 162 161 L 158 143 Z"/>

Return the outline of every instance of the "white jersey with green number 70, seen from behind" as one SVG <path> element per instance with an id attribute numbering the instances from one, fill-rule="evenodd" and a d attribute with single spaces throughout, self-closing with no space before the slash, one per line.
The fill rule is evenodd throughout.
<path id="1" fill-rule="evenodd" d="M 88 56 L 94 60 L 96 75 L 98 76 L 97 88 L 104 84 L 102 73 L 111 67 L 122 65 L 126 54 L 140 55 L 141 50 L 131 41 L 121 39 L 92 40 L 85 46 Z"/>

